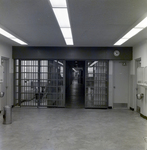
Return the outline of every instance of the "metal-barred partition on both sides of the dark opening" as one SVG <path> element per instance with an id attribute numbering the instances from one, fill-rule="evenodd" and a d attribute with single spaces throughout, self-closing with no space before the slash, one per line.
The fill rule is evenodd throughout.
<path id="1" fill-rule="evenodd" d="M 107 60 L 85 61 L 85 108 L 108 108 Z M 14 105 L 65 107 L 64 60 L 14 60 Z"/>

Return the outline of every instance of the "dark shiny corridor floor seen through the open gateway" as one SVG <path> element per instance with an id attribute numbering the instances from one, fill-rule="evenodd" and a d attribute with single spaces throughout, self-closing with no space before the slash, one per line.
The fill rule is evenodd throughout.
<path id="1" fill-rule="evenodd" d="M 70 88 L 67 89 L 66 107 L 84 108 L 84 86 L 78 83 L 78 79 L 74 79 Z"/>

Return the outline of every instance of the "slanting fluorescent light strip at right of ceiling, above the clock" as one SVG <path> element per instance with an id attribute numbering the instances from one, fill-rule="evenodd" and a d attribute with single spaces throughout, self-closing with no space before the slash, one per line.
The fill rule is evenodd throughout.
<path id="1" fill-rule="evenodd" d="M 147 27 L 147 17 L 144 18 L 140 23 L 138 23 L 134 28 L 132 28 L 127 34 L 125 34 L 121 39 L 119 39 L 114 45 L 122 45 L 127 40 L 135 36 L 137 33 L 142 31 Z"/>

